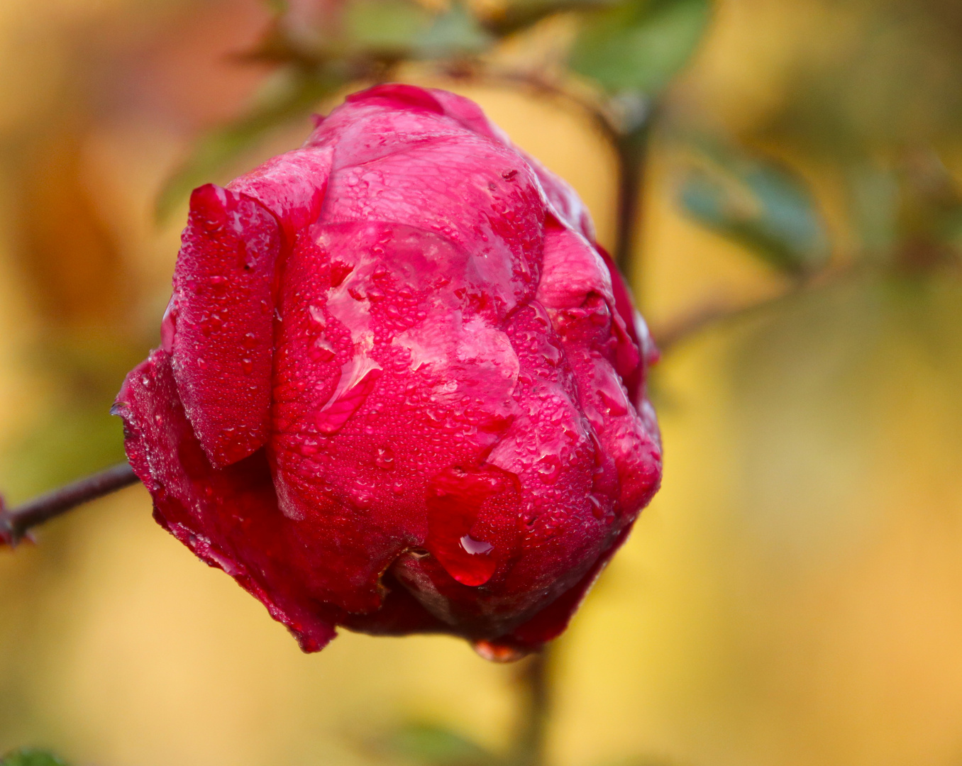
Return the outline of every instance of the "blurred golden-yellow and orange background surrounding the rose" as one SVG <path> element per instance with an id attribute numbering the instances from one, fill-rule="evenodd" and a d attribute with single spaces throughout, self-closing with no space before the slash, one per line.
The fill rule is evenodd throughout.
<path id="1" fill-rule="evenodd" d="M 158 341 L 186 213 L 174 194 L 159 223 L 157 200 L 277 76 L 237 55 L 270 13 L 0 3 L 8 500 L 122 458 L 107 410 Z M 576 23 L 502 53 L 538 64 Z M 402 74 L 475 98 L 614 246 L 617 157 L 583 110 Z M 735 314 L 653 375 L 664 488 L 557 644 L 552 766 L 962 764 L 960 126 L 956 0 L 712 8 L 659 96 L 632 280 L 656 336 Z M 309 130 L 266 131 L 212 180 Z M 345 632 L 303 655 L 139 487 L 38 542 L 0 552 L 0 753 L 363 766 L 392 762 L 379 738 L 411 721 L 495 752 L 512 737 L 511 666 L 443 637 Z"/>

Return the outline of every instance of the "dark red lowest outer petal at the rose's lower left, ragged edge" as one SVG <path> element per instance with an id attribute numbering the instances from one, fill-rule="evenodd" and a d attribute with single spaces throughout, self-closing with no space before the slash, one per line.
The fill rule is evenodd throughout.
<path id="1" fill-rule="evenodd" d="M 224 469 L 211 465 L 184 414 L 165 351 L 131 371 L 114 413 L 124 420 L 127 456 L 154 498 L 158 523 L 261 600 L 304 651 L 334 638 L 323 607 L 287 566 L 286 520 L 264 453 Z"/>

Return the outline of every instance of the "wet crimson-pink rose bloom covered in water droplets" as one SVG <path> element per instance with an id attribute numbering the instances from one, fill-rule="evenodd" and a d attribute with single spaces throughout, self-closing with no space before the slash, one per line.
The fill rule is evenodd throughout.
<path id="1" fill-rule="evenodd" d="M 658 488 L 656 355 L 573 191 L 443 90 L 193 192 L 117 398 L 155 518 L 305 651 L 565 626 Z"/>

